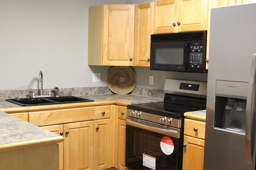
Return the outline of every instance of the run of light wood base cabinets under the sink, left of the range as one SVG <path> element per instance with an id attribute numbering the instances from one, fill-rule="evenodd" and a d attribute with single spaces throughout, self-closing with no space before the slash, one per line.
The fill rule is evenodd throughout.
<path id="1" fill-rule="evenodd" d="M 58 170 L 124 170 L 126 107 L 35 111 L 28 113 L 28 120 L 64 137 L 58 143 Z"/>

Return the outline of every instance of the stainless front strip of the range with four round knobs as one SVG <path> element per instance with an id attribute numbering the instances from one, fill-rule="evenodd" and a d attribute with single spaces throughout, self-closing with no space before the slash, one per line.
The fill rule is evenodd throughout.
<path id="1" fill-rule="evenodd" d="M 172 117 L 155 115 L 155 114 L 146 113 L 138 110 L 132 110 L 132 109 L 127 109 L 127 116 L 136 117 L 138 119 L 151 121 L 154 123 L 159 123 L 162 125 L 167 125 L 167 126 L 176 127 L 176 128 L 181 128 L 181 125 L 182 125 L 182 119 L 174 119 Z"/>

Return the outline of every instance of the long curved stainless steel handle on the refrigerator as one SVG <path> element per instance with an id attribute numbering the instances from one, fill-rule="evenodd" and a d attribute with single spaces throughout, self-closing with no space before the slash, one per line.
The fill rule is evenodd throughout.
<path id="1" fill-rule="evenodd" d="M 246 145 L 246 161 L 252 163 L 252 114 L 254 111 L 254 90 L 256 80 L 256 54 L 252 57 L 252 66 L 250 70 L 249 84 L 248 84 L 248 95 L 246 102 L 246 117 L 245 117 L 245 145 Z"/>

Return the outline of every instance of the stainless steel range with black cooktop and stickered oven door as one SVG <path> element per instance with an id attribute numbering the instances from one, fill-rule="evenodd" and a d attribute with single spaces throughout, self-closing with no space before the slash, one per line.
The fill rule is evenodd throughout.
<path id="1" fill-rule="evenodd" d="M 166 79 L 164 102 L 127 106 L 127 170 L 182 170 L 184 113 L 206 109 L 206 87 Z"/>

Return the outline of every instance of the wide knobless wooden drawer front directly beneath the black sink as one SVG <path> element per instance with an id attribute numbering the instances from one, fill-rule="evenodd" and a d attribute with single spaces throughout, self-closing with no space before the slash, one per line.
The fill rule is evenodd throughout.
<path id="1" fill-rule="evenodd" d="M 28 121 L 37 126 L 56 125 L 94 119 L 94 107 L 35 111 L 28 113 Z"/>

